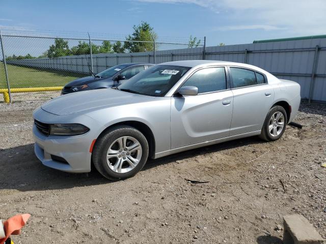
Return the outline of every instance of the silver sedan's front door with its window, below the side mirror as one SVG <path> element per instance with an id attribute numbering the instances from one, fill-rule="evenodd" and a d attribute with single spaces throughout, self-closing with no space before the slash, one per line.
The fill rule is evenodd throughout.
<path id="1" fill-rule="evenodd" d="M 171 148 L 228 137 L 233 95 L 225 67 L 199 69 L 182 86 L 198 87 L 198 95 L 171 98 Z"/>

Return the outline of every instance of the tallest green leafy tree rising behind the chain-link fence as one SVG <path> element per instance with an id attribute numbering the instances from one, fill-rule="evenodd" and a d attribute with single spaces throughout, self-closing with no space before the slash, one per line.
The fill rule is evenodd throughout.
<path id="1" fill-rule="evenodd" d="M 126 37 L 124 49 L 129 52 L 146 52 L 153 51 L 153 40 L 156 40 L 157 35 L 153 27 L 149 23 L 142 21 L 139 25 L 133 26 L 133 33 Z M 145 41 L 145 42 L 128 42 L 128 41 Z"/>

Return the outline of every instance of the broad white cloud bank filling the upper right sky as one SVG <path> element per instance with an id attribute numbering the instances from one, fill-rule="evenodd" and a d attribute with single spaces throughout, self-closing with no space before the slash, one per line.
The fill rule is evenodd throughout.
<path id="1" fill-rule="evenodd" d="M 236 29 L 286 29 L 295 35 L 326 34 L 325 0 L 138 0 L 161 4 L 195 4 L 215 13 L 227 15 L 230 26 L 216 28 Z"/>

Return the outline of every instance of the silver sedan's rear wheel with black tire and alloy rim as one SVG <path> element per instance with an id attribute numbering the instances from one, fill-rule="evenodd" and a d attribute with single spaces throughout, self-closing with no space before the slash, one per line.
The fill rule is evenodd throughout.
<path id="1" fill-rule="evenodd" d="M 286 124 L 287 114 L 285 109 L 281 106 L 274 106 L 269 109 L 266 115 L 259 137 L 265 141 L 276 141 L 283 135 Z"/>

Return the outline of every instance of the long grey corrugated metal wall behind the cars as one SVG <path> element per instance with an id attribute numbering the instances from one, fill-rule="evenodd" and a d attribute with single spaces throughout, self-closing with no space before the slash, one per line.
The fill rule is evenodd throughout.
<path id="1" fill-rule="evenodd" d="M 316 46 L 318 46 L 316 52 Z M 326 39 L 294 40 L 206 47 L 206 59 L 227 60 L 258 66 L 277 77 L 298 82 L 302 98 L 309 98 L 315 60 L 311 99 L 326 102 Z M 156 64 L 202 59 L 203 48 L 156 51 Z M 93 55 L 94 73 L 122 63 L 153 63 L 153 52 L 101 53 Z M 10 60 L 8 64 L 88 73 L 87 56 Z"/>

